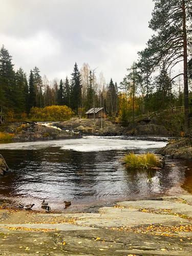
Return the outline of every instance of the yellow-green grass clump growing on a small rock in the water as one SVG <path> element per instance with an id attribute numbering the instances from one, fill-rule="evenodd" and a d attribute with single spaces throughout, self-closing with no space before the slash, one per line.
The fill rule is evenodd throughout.
<path id="1" fill-rule="evenodd" d="M 153 153 L 142 155 L 129 153 L 124 156 L 123 160 L 126 167 L 131 169 L 157 169 L 161 167 L 160 159 Z"/>

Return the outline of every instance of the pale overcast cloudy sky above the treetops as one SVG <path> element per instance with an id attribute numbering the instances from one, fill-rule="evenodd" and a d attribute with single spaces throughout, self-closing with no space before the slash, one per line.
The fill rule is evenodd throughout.
<path id="1" fill-rule="evenodd" d="M 153 0 L 0 0 L 0 46 L 15 69 L 65 79 L 77 62 L 119 83 L 153 34 Z"/>

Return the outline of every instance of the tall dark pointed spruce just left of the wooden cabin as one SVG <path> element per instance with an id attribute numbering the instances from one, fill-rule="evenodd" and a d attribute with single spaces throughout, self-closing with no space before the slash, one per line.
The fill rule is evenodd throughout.
<path id="1" fill-rule="evenodd" d="M 74 70 L 71 79 L 71 108 L 78 111 L 78 108 L 81 107 L 81 78 L 80 72 L 77 67 L 77 63 L 75 62 Z"/>

